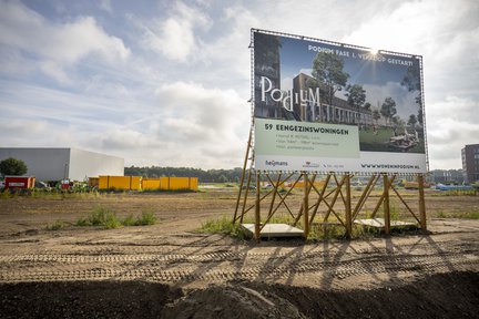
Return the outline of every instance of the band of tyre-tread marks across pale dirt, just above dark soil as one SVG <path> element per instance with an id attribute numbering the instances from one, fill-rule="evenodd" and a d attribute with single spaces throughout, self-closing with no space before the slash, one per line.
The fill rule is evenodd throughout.
<path id="1" fill-rule="evenodd" d="M 358 257 L 358 258 L 350 258 Z M 0 282 L 146 279 L 159 282 L 278 279 L 326 274 L 338 279 L 360 275 L 477 269 L 479 257 L 436 255 L 349 256 L 327 260 L 320 254 L 206 253 L 139 255 L 0 256 Z"/>

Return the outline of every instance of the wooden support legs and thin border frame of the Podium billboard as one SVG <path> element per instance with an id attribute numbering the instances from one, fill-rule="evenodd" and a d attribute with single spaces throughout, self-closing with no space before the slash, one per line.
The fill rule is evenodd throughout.
<path id="1" fill-rule="evenodd" d="M 380 206 L 383 206 L 383 215 L 384 215 L 384 231 L 386 235 L 390 234 L 391 230 L 391 220 L 390 220 L 390 198 L 391 195 L 396 195 L 399 199 L 399 203 L 404 205 L 407 210 L 407 214 L 410 214 L 416 220 L 417 225 L 420 229 L 427 230 L 427 222 L 426 222 L 426 204 L 425 204 L 425 194 L 424 194 L 424 185 L 425 185 L 425 175 L 422 173 L 388 173 L 388 172 L 332 172 L 332 171 L 300 171 L 300 169 L 256 169 L 255 168 L 255 148 L 254 148 L 254 134 L 255 134 L 255 60 L 254 60 L 254 33 L 262 32 L 266 34 L 282 35 L 296 38 L 302 40 L 312 40 L 312 41 L 320 41 L 323 43 L 330 43 L 335 45 L 347 45 L 347 48 L 361 49 L 361 50 L 370 50 L 366 47 L 358 47 L 351 44 L 345 44 L 334 41 L 320 40 L 315 38 L 281 33 L 261 29 L 251 29 L 251 43 L 248 49 L 251 49 L 251 92 L 252 97 L 249 99 L 251 103 L 251 127 L 249 135 L 246 146 L 246 153 L 243 163 L 243 172 L 242 177 L 240 179 L 240 191 L 238 196 L 236 198 L 236 207 L 233 216 L 233 224 L 240 223 L 243 224 L 246 216 L 251 213 L 254 214 L 254 234 L 253 237 L 256 240 L 259 240 L 262 235 L 261 233 L 264 230 L 264 227 L 267 224 L 271 224 L 272 217 L 281 212 L 279 208 L 284 208 L 286 214 L 291 215 L 294 219 L 293 226 L 302 225 L 303 228 L 303 237 L 305 239 L 308 238 L 310 228 L 315 223 L 315 218 L 317 217 L 318 207 L 324 203 L 327 208 L 327 213 L 323 220 L 319 223 L 322 225 L 328 225 L 328 217 L 334 215 L 339 222 L 340 226 L 345 228 L 345 238 L 351 238 L 353 236 L 353 225 L 355 220 L 358 218 L 359 213 L 364 208 L 364 205 L 368 198 L 371 196 L 371 192 L 375 188 L 378 181 L 383 181 L 383 192 L 377 200 L 375 209 L 373 212 L 373 218 L 379 212 Z M 411 56 L 410 54 L 397 53 L 391 51 L 381 50 L 380 52 L 387 52 L 388 54 Z M 422 58 L 420 55 L 414 55 L 419 58 L 420 61 L 420 107 L 424 114 L 422 116 L 422 130 L 424 130 L 424 143 L 425 143 L 425 156 L 426 156 L 426 167 L 429 169 L 428 162 L 428 148 L 427 148 L 427 134 L 426 134 L 426 116 L 425 116 L 425 103 L 424 103 L 424 76 L 422 76 Z M 338 175 L 338 173 L 343 175 Z M 283 175 L 285 174 L 286 177 Z M 276 175 L 276 178 L 274 176 Z M 414 209 L 410 208 L 408 203 L 401 196 L 401 194 L 396 189 L 396 186 L 393 182 L 396 179 L 398 175 L 411 175 L 416 177 L 418 184 L 418 214 L 415 214 Z M 338 178 L 340 176 L 340 178 Z M 351 178 L 354 176 L 369 176 L 369 182 L 367 186 L 363 189 L 359 199 L 354 203 L 351 196 Z M 316 179 L 324 177 L 323 186 L 320 189 L 316 186 Z M 293 186 L 286 192 L 286 194 L 282 195 L 282 188 L 285 187 L 286 182 L 293 178 L 295 181 Z M 286 204 L 286 200 L 292 199 L 291 196 L 293 188 L 298 183 L 303 183 L 303 196 L 299 203 L 299 209 L 294 212 Z M 263 191 L 262 194 L 262 185 L 263 183 L 268 183 L 271 185 L 271 189 Z M 328 185 L 333 183 L 333 187 L 328 188 Z M 289 185 L 291 186 L 291 185 Z M 249 192 L 254 189 L 254 192 Z M 251 196 L 251 193 L 254 193 L 254 198 Z M 332 197 L 329 197 L 332 196 Z M 328 198 L 329 197 L 329 198 Z M 279 199 L 278 199 L 279 198 Z M 338 198 L 340 198 L 338 200 Z M 294 199 L 294 198 L 293 198 Z M 313 203 L 310 205 L 310 203 Z M 262 219 L 262 210 L 268 206 L 267 215 Z M 297 203 L 296 203 L 297 204 Z M 338 208 L 338 206 L 340 206 Z M 336 209 L 335 209 L 336 208 Z M 344 212 L 339 212 L 338 209 L 343 209 Z"/>

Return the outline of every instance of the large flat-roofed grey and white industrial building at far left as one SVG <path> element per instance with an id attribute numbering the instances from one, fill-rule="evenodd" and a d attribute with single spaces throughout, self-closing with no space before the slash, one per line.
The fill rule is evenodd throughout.
<path id="1" fill-rule="evenodd" d="M 37 181 L 84 181 L 100 175 L 124 175 L 124 158 L 75 148 L 0 147 L 0 161 L 13 157 Z"/>

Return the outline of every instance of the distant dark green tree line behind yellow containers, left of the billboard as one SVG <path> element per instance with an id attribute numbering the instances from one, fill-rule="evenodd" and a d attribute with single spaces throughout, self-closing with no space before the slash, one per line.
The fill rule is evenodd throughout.
<path id="1" fill-rule="evenodd" d="M 240 183 L 242 168 L 202 169 L 192 167 L 130 166 L 124 168 L 125 176 L 143 177 L 197 177 L 200 183 Z"/>

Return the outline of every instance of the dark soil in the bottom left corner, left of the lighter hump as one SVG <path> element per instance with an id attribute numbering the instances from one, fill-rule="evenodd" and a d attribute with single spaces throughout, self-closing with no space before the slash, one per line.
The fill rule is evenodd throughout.
<path id="1" fill-rule="evenodd" d="M 0 318 L 157 318 L 180 297 L 171 294 L 142 281 L 8 284 L 0 285 Z"/>

